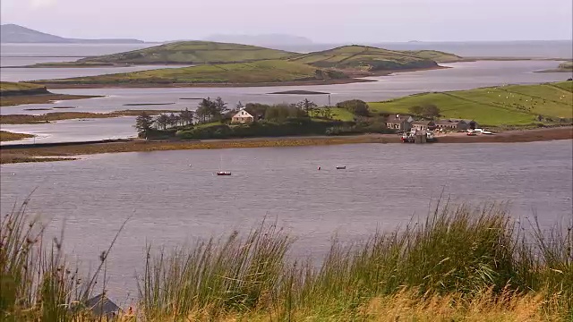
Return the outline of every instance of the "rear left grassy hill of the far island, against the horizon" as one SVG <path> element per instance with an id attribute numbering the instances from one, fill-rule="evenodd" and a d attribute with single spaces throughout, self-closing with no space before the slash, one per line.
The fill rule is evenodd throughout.
<path id="1" fill-rule="evenodd" d="M 278 59 L 293 53 L 282 50 L 210 41 L 182 41 L 79 60 L 79 63 L 113 64 L 227 64 Z"/>

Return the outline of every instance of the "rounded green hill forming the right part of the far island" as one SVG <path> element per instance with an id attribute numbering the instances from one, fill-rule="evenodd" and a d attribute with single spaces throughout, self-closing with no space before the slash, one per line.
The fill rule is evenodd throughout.
<path id="1" fill-rule="evenodd" d="M 310 54 L 295 55 L 288 58 L 288 60 L 321 68 L 378 72 L 437 67 L 436 60 L 438 59 L 441 61 L 454 61 L 459 58 L 457 55 L 427 50 L 401 52 L 376 47 L 345 46 Z"/>

